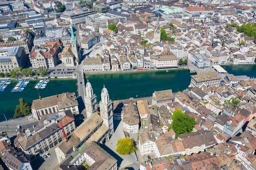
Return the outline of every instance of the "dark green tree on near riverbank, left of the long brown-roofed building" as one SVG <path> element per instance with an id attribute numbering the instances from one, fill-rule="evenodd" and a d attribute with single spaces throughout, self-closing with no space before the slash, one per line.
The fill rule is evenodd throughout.
<path id="1" fill-rule="evenodd" d="M 19 101 L 20 101 L 20 104 L 16 106 L 13 118 L 19 118 L 19 117 L 27 116 L 31 114 L 30 105 L 26 103 L 23 98 L 20 98 Z"/>

